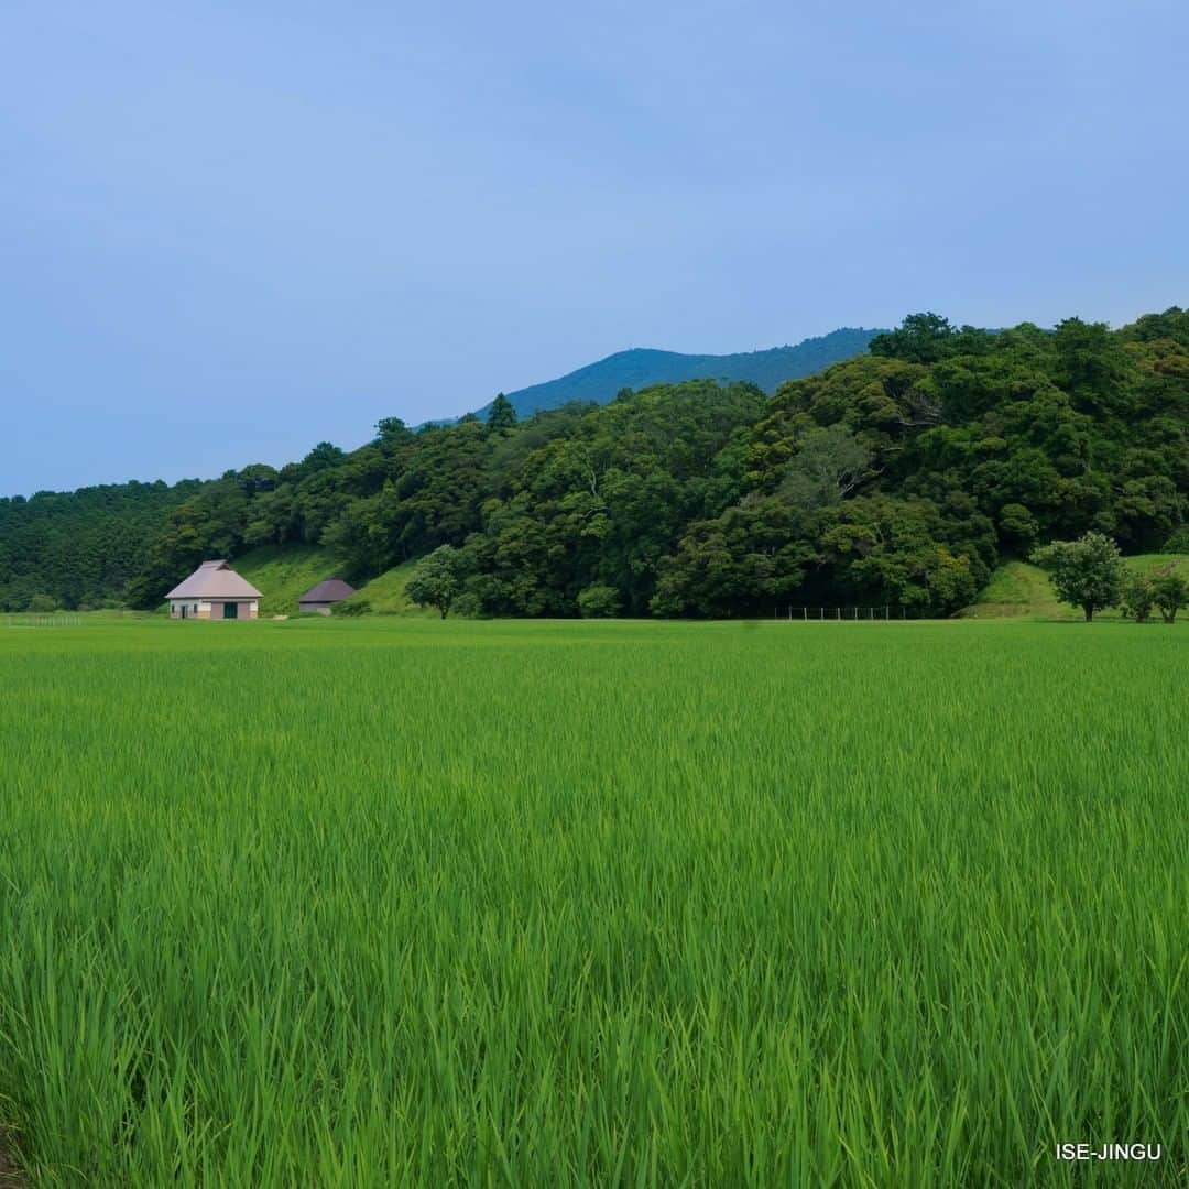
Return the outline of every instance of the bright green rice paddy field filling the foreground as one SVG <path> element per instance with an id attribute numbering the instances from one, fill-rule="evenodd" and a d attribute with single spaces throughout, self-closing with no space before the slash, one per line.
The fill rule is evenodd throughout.
<path id="1" fill-rule="evenodd" d="M 0 628 L 0 1124 L 37 1185 L 1184 1184 L 1187 675 L 1181 624 Z"/>

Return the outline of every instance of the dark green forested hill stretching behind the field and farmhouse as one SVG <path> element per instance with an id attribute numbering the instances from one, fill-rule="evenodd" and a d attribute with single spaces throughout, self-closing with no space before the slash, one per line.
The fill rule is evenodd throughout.
<path id="1" fill-rule="evenodd" d="M 914 315 L 766 395 L 691 379 L 408 429 L 279 471 L 0 501 L 0 608 L 157 605 L 205 558 L 321 543 L 344 577 L 451 546 L 472 612 L 945 614 L 1089 528 L 1189 549 L 1189 313 L 995 333 Z"/>

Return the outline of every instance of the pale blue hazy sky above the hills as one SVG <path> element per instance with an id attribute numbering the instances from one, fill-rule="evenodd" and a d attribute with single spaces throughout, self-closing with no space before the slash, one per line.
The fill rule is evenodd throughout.
<path id="1" fill-rule="evenodd" d="M 15 0 L 0 493 L 614 351 L 1189 304 L 1189 6 Z"/>

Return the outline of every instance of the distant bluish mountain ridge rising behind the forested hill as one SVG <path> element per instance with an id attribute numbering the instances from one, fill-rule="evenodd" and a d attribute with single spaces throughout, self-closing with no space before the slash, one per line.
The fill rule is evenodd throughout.
<path id="1" fill-rule="evenodd" d="M 861 354 L 872 339 L 882 333 L 845 327 L 818 339 L 806 339 L 795 347 L 772 347 L 734 356 L 684 356 L 677 351 L 635 347 L 617 351 L 560 379 L 533 384 L 507 395 L 523 417 L 539 409 L 555 409 L 568 401 L 605 404 L 623 388 L 641 389 L 682 379 L 746 379 L 772 392 L 786 379 L 811 376 L 830 364 Z M 485 411 L 480 409 L 479 415 Z"/>

